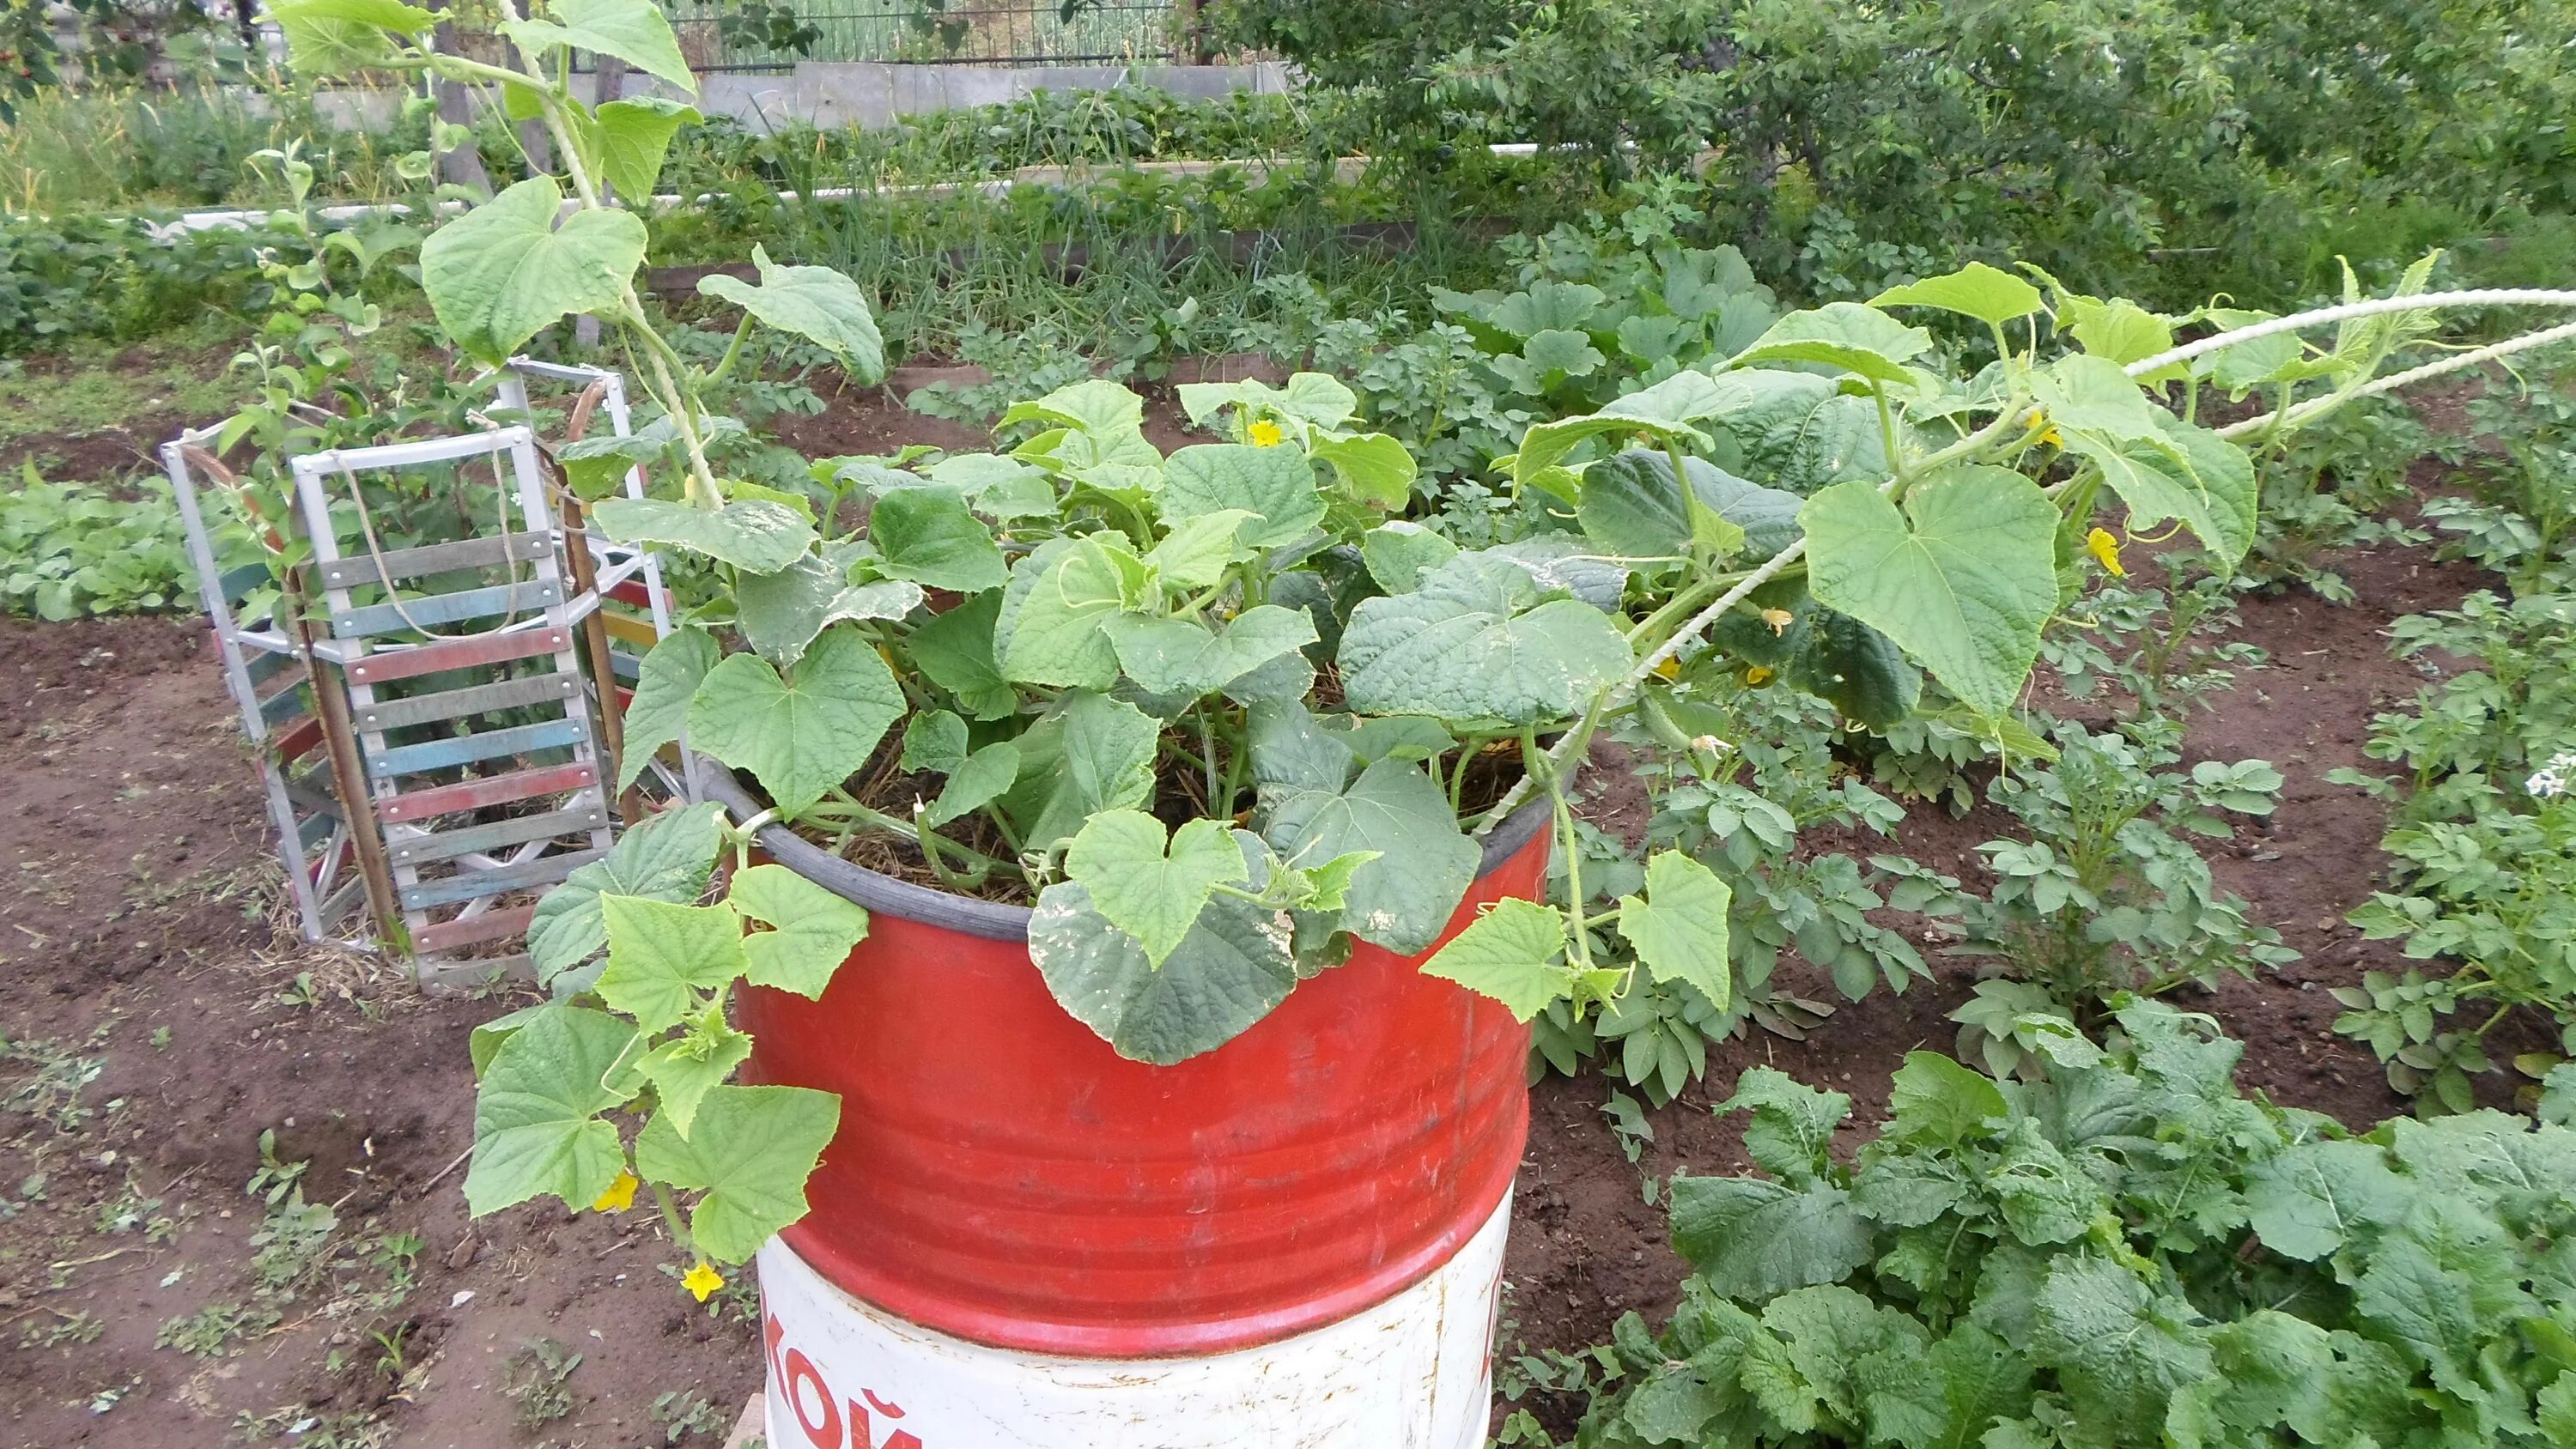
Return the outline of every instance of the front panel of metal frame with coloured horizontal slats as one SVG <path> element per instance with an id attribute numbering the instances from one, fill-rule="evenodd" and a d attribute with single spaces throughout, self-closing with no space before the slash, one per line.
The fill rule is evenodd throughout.
<path id="1" fill-rule="evenodd" d="M 492 461 L 507 479 L 497 533 L 397 551 L 376 551 L 374 543 L 355 553 L 343 548 L 332 515 L 340 479 L 477 458 Z M 502 970 L 513 965 L 505 957 L 446 957 L 523 934 L 533 906 L 502 901 L 562 880 L 611 844 L 605 762 L 574 646 L 577 623 L 598 607 L 598 595 L 567 587 L 536 438 L 515 425 L 343 448 L 294 458 L 291 471 L 325 600 L 325 628 L 314 631 L 312 654 L 348 682 L 358 770 L 384 831 L 415 968 L 422 981 L 456 968 Z M 513 502 L 515 528 L 505 522 Z M 477 582 L 492 571 L 502 571 L 505 582 Z M 397 595 L 404 584 L 417 589 L 428 579 L 456 577 L 469 587 Z M 361 605 L 361 589 L 384 597 Z M 487 623 L 495 618 L 500 623 Z M 541 664 L 541 672 L 515 674 L 523 661 Z M 484 682 L 453 685 L 456 677 Z M 502 710 L 551 718 L 464 728 Z M 469 775 L 466 767 L 477 764 L 497 764 L 500 772 Z M 520 806 L 523 813 L 440 829 L 495 806 Z"/>

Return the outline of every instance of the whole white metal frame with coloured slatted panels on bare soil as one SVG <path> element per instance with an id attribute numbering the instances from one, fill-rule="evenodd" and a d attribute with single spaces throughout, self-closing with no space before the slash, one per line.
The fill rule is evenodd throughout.
<path id="1" fill-rule="evenodd" d="M 564 383 L 595 394 L 616 435 L 629 435 L 631 412 L 626 381 L 608 368 L 582 368 L 513 358 L 497 376 L 500 401 L 528 412 L 528 383 Z M 574 409 L 577 414 L 585 407 Z M 574 435 L 580 425 L 577 420 Z M 623 695 L 641 672 L 641 651 L 665 638 L 672 628 L 670 595 L 662 584 L 659 558 L 647 548 L 611 543 L 595 530 L 580 528 L 567 497 L 567 515 L 556 517 L 549 494 L 549 468 L 536 450 L 533 430 L 500 427 L 471 438 L 440 438 L 420 443 L 392 443 L 381 448 L 348 448 L 291 458 L 294 504 L 289 517 L 252 517 L 255 528 L 270 530 L 270 546 L 283 548 L 294 525 L 304 522 L 312 538 L 314 561 L 289 574 L 273 602 L 252 602 L 273 574 L 268 564 L 250 564 L 232 574 L 219 571 L 214 535 L 201 502 L 201 479 L 232 486 L 232 476 L 216 461 L 222 427 L 196 427 L 162 445 L 162 466 L 170 474 L 180 520 L 188 533 L 188 558 L 198 574 L 198 592 L 206 620 L 214 628 L 224 667 L 224 687 L 232 695 L 242 734 L 260 767 L 270 829 L 276 831 L 278 862 L 286 870 L 289 896 L 296 906 L 296 929 L 307 942 L 335 942 L 353 950 L 379 950 L 379 942 L 402 942 L 417 952 L 422 981 L 440 973 L 438 952 L 459 945 L 502 939 L 523 929 L 518 911 L 497 911 L 495 901 L 513 891 L 528 891 L 562 878 L 577 860 L 590 860 L 608 847 L 611 824 L 605 816 L 608 770 L 598 754 L 587 705 L 600 710 L 598 723 L 613 739 Z M 397 633 L 397 620 L 407 613 L 422 623 L 453 623 L 489 618 L 474 613 L 477 600 L 459 595 L 430 595 L 407 600 L 402 610 L 392 605 L 353 607 L 350 589 L 368 582 L 392 584 L 374 566 L 374 553 L 348 556 L 330 525 L 330 481 L 343 468 L 350 474 L 412 468 L 464 461 L 474 456 L 507 456 L 515 474 L 515 504 L 520 530 L 495 546 L 492 540 L 461 540 L 407 553 L 407 564 L 430 571 L 430 564 L 489 564 L 507 558 L 533 577 L 510 587 L 507 605 L 518 605 L 520 587 L 538 602 L 531 618 L 505 618 L 500 625 L 471 633 L 466 641 L 430 641 L 410 646 L 371 643 L 381 633 Z M 626 471 L 626 497 L 644 497 L 644 471 Z M 255 504 L 252 504 L 255 512 Z M 495 553 L 500 548 L 500 553 Z M 574 551 L 580 556 L 574 558 Z M 471 556 L 471 561 L 469 561 Z M 386 553 L 394 564 L 394 553 Z M 317 628 L 307 618 L 301 587 L 307 574 L 322 582 L 330 620 L 340 628 Z M 404 577 L 415 577 L 410 569 Z M 471 589 L 469 589 L 471 592 Z M 482 589 L 500 592 L 500 589 Z M 605 610 L 616 600 L 634 613 Z M 482 600 L 489 605 L 489 600 Z M 250 607 L 245 607 L 250 605 Z M 515 610 L 510 610 L 515 613 Z M 446 633 L 446 631 L 440 631 Z M 587 636 L 587 638 L 577 638 Z M 577 646 L 590 643 L 590 679 L 585 682 Z M 626 649 L 621 651 L 618 643 Z M 446 654 L 433 654 L 435 649 Z M 484 687 L 453 690 L 448 705 L 420 705 L 417 723 L 438 718 L 446 708 L 489 700 L 492 708 L 515 708 L 562 697 L 564 718 L 523 726 L 520 731 L 484 731 L 477 744 L 433 741 L 430 746 L 386 746 L 386 728 L 404 718 L 404 700 L 379 697 L 379 685 L 412 677 L 453 661 L 507 664 L 513 659 L 551 656 L 554 674 L 502 679 Z M 549 687 L 549 682 L 562 682 Z M 265 690 L 265 695 L 263 695 Z M 507 697 L 502 697 L 507 695 Z M 461 715 L 456 715 L 461 718 Z M 397 721 L 397 723 L 386 723 Z M 510 777 L 471 777 L 453 785 L 397 790 L 402 775 L 438 770 L 440 762 L 461 764 L 492 746 L 510 746 L 502 736 L 528 739 L 520 749 L 564 746 L 572 764 L 520 770 Z M 312 762 L 301 772 L 299 762 Z M 670 795 L 693 798 L 685 741 L 680 764 L 649 762 L 647 777 Z M 505 818 L 464 831 L 430 831 L 415 821 L 433 821 L 448 811 L 477 811 L 492 803 L 531 800 L 567 793 L 569 800 L 546 816 Z M 598 821 L 587 826 L 587 821 Z M 350 821 L 358 821 L 353 829 Z M 564 836 L 587 834 L 590 849 L 549 854 L 556 836 L 523 839 L 546 821 L 567 824 Z M 507 839 L 484 839 L 507 836 Z M 425 880 L 422 867 L 448 865 L 456 878 Z M 477 880 L 466 880 L 477 878 Z M 487 878 L 487 880 L 482 880 Z M 479 883 L 492 891 L 464 896 Z M 433 909 L 459 903 L 448 921 L 430 921 Z M 368 911 L 374 909 L 374 911 Z M 374 932 L 366 916 L 374 914 Z M 489 970 L 505 963 L 471 963 Z"/>

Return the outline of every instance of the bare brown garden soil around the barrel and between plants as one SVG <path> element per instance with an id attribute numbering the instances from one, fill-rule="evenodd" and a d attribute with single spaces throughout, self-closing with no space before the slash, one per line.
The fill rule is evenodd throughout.
<path id="1" fill-rule="evenodd" d="M 811 453 L 974 438 L 876 389 L 827 401 L 793 425 Z M 1157 417 L 1157 430 L 1167 422 Z M 2349 607 L 2303 592 L 2244 602 L 2241 633 L 2272 664 L 2195 713 L 2187 746 L 2190 759 L 2259 757 L 2287 775 L 2264 829 L 2213 854 L 2221 883 L 2303 960 L 2177 1001 L 2213 1009 L 2249 1042 L 2249 1089 L 2367 1125 L 2406 1104 L 2367 1048 L 2329 1032 L 2326 988 L 2401 965 L 2396 942 L 2362 942 L 2342 924 L 2380 875 L 2383 808 L 2324 775 L 2367 767 L 2367 715 L 2421 679 L 2388 656 L 2388 623 L 2455 602 L 2476 574 L 2401 546 L 2347 553 L 2339 569 L 2357 595 Z M 703 1310 L 677 1297 L 665 1279 L 677 1261 L 649 1212 L 528 1207 L 469 1228 L 456 1168 L 474 1099 L 464 1040 L 507 1001 L 422 1001 L 389 970 L 304 952 L 276 927 L 258 793 L 201 631 L 10 623 L 0 656 L 0 813 L 18 821 L 15 891 L 0 901 L 10 965 L 0 1099 L 13 1104 L 0 1117 L 0 1343 L 21 1364 L 0 1413 L 15 1441 L 211 1441 L 237 1416 L 250 1416 L 240 1421 L 250 1434 L 281 1434 L 299 1416 L 343 1434 L 304 1444 L 641 1441 L 662 1434 L 649 1421 L 659 1395 L 693 1392 L 714 1413 L 701 1439 L 683 1441 L 716 1444 L 714 1421 L 729 1423 L 757 1382 L 747 1297 L 726 1292 Z M 1981 885 L 1971 847 L 2007 834 L 1986 811 L 1950 818 L 1917 806 L 1899 849 Z M 1886 1114 L 1901 1055 L 1953 1042 L 1945 1011 L 1965 999 L 1971 970 L 1935 965 L 1932 988 L 1847 1004 L 1803 1042 L 1752 1029 L 1716 1048 L 1703 1084 L 1649 1112 L 1654 1143 L 1638 1163 L 1600 1112 L 1600 1076 L 1543 1081 L 1515 1197 L 1504 1354 L 1582 1349 L 1625 1310 L 1651 1318 L 1672 1305 L 1682 1266 L 1641 1181 L 1747 1166 L 1739 1127 L 1708 1112 L 1741 1068 L 1767 1063 L 1850 1091 L 1844 1145 L 1855 1145 Z M 1783 978 L 1798 996 L 1837 999 L 1803 965 Z M 85 1060 L 98 1076 L 77 1099 L 36 1086 L 77 1076 Z M 31 1107 L 88 1117 L 57 1132 Z M 242 1184 L 263 1168 L 268 1130 L 273 1161 L 307 1163 L 307 1197 L 330 1204 L 337 1228 L 294 1297 L 263 1302 L 250 1243 L 263 1202 Z M 44 1174 L 41 1199 L 31 1174 Z M 155 1220 L 170 1223 L 167 1241 L 155 1241 Z M 379 1248 L 399 1233 L 420 1243 L 394 1302 L 386 1264 L 404 1256 Z M 224 1338 L 222 1318 L 204 1315 L 211 1305 L 252 1318 Z M 165 1331 L 178 1320 L 193 1328 Z M 216 1356 L 155 1346 L 191 1333 Z M 562 1377 L 567 1413 L 510 1426 L 549 1398 L 502 1395 L 513 1364 L 549 1377 L 528 1356 L 538 1338 L 582 1354 Z M 665 1418 L 690 1403 L 662 1400 Z"/>

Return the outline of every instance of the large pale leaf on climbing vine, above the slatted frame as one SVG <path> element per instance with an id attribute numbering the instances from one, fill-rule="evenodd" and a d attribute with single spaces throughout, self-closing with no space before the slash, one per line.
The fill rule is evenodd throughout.
<path id="1" fill-rule="evenodd" d="M 448 221 L 420 245 L 420 291 L 448 337 L 500 365 L 572 311 L 618 306 L 644 263 L 631 211 L 574 211 L 551 175 L 528 178 Z"/>

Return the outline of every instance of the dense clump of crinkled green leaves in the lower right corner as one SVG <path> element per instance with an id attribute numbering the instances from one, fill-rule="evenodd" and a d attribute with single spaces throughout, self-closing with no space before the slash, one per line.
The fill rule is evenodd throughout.
<path id="1" fill-rule="evenodd" d="M 2236 1091 L 2205 1017 L 2058 1019 L 2045 1078 L 1935 1053 L 1878 1140 L 1752 1068 L 1765 1176 L 1677 1176 L 1690 1261 L 1625 1315 L 1577 1449 L 2563 1444 L 2576 1434 L 2576 1078 L 2540 1122 L 2349 1135 Z M 1502 1444 L 1556 1444 L 1520 1410 Z"/>

